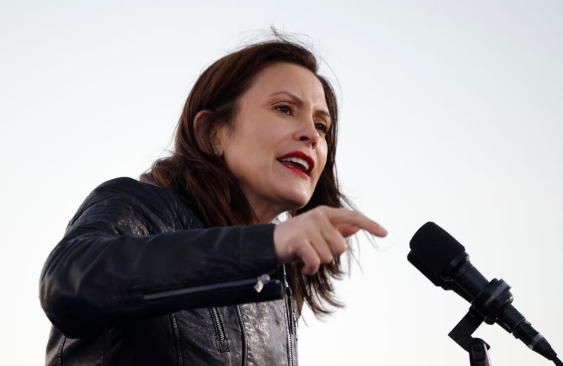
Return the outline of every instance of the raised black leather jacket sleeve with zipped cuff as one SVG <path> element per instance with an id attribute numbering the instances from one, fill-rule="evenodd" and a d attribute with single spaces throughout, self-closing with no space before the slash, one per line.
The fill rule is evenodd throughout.
<path id="1" fill-rule="evenodd" d="M 170 191 L 129 178 L 98 187 L 44 265 L 39 293 L 71 338 L 187 308 L 284 296 L 274 225 L 202 228 Z"/>

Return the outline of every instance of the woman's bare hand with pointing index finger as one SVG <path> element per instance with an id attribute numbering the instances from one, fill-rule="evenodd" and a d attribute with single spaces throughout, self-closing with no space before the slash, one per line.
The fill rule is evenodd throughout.
<path id="1" fill-rule="evenodd" d="M 358 211 L 318 206 L 281 222 L 274 229 L 278 262 L 302 262 L 303 274 L 312 275 L 348 249 L 346 236 L 360 229 L 384 237 L 386 229 Z"/>

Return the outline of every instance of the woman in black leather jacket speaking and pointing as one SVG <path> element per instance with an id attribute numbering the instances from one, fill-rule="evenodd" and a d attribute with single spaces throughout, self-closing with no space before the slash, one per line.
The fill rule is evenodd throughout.
<path id="1" fill-rule="evenodd" d="M 339 305 L 346 236 L 386 234 L 341 208 L 336 125 L 334 92 L 297 44 L 211 65 L 172 156 L 97 187 L 46 260 L 46 364 L 296 365 L 303 303 Z"/>

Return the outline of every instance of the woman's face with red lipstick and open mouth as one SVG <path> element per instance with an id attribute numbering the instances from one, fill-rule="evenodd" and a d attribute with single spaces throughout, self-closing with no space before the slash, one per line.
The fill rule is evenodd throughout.
<path id="1" fill-rule="evenodd" d="M 234 128 L 217 137 L 260 222 L 308 203 L 327 162 L 330 123 L 321 82 L 300 65 L 268 66 L 243 94 Z"/>

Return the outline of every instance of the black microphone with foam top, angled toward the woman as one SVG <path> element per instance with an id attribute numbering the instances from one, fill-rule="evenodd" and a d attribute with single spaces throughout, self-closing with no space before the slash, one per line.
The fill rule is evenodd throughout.
<path id="1" fill-rule="evenodd" d="M 434 222 L 426 222 L 412 236 L 410 249 L 407 259 L 432 283 L 472 303 L 472 310 L 487 324 L 496 322 L 533 351 L 559 361 L 548 341 L 511 305 L 510 286 L 502 279 L 488 282 L 471 264 L 464 246 L 448 232 Z"/>

